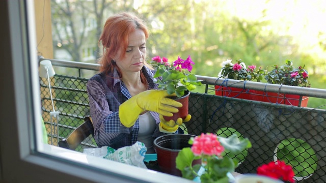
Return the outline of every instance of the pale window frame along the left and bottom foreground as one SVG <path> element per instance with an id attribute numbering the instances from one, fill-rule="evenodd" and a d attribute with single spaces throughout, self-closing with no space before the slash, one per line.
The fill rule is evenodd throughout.
<path id="1" fill-rule="evenodd" d="M 33 3 L 0 1 L 0 182 L 192 182 L 36 140 L 41 106 Z"/>

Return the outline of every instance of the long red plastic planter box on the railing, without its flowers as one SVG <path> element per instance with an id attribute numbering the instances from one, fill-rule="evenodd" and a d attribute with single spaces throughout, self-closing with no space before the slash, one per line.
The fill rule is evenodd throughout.
<path id="1" fill-rule="evenodd" d="M 263 92 L 254 89 L 243 89 L 226 86 L 215 86 L 215 95 L 292 106 L 298 106 L 300 99 L 300 96 L 298 95 L 279 94 L 273 92 Z M 308 99 L 309 97 L 302 97 L 301 107 L 307 107 Z"/>

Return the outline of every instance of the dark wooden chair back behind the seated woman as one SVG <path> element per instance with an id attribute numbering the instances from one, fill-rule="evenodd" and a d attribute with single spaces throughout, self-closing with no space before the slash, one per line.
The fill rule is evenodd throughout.
<path id="1" fill-rule="evenodd" d="M 59 141 L 59 147 L 75 150 L 77 146 L 82 143 L 88 136 L 94 135 L 94 127 L 92 118 L 86 116 L 84 123 L 77 127 L 66 139 Z"/>

